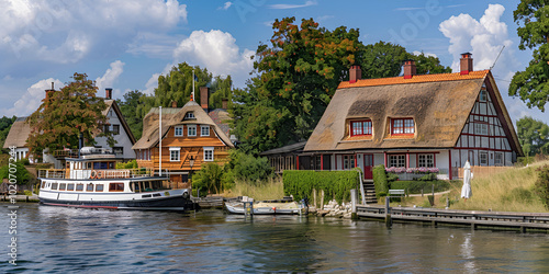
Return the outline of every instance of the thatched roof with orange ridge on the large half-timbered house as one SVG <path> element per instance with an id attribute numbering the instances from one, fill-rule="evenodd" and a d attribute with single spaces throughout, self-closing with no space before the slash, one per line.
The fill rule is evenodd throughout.
<path id="1" fill-rule="evenodd" d="M 509 144 L 514 149 L 519 148 L 492 73 L 482 70 L 463 76 L 458 72 L 341 82 L 304 151 L 453 148 L 485 79 L 493 82 Z M 414 118 L 413 137 L 390 135 L 390 118 L 399 117 Z M 347 123 L 352 118 L 372 121 L 371 138 L 349 137 Z M 522 149 L 516 151 L 522 153 Z"/>

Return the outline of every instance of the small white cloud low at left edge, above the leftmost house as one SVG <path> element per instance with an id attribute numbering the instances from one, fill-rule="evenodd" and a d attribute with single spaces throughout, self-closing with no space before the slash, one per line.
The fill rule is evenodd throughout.
<path id="1" fill-rule="evenodd" d="M 26 92 L 13 104 L 13 107 L 0 110 L 0 115 L 8 117 L 13 115 L 18 117 L 31 115 L 42 104 L 42 100 L 46 96 L 45 91 L 52 89 L 52 82 L 54 83 L 55 90 L 65 87 L 58 79 L 48 78 L 40 80 L 31 85 L 31 88 L 26 89 Z"/>

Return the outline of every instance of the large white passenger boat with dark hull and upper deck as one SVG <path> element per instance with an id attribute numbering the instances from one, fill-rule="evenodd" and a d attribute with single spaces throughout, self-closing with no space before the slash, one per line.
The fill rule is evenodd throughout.
<path id="1" fill-rule="evenodd" d="M 115 169 L 112 153 L 66 158 L 66 169 L 38 170 L 38 198 L 44 205 L 186 210 L 192 206 L 190 190 L 172 190 L 169 179 L 146 169 Z"/>

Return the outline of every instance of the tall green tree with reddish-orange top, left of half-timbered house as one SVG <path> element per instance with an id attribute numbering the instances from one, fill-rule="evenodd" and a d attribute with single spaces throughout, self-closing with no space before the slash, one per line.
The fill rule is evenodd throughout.
<path id="1" fill-rule="evenodd" d="M 254 57 L 259 77 L 235 94 L 235 102 L 247 104 L 233 104 L 233 117 L 236 124 L 249 125 L 237 132 L 248 152 L 309 138 L 355 62 L 358 30 L 328 31 L 313 19 L 302 20 L 301 25 L 294 21 L 274 21 L 270 46 L 259 45 Z"/>

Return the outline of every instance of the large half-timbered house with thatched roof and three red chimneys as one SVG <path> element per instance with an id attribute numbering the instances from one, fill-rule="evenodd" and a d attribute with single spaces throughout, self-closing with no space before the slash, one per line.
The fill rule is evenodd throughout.
<path id="1" fill-rule="evenodd" d="M 361 79 L 360 67 L 339 84 L 303 150 L 322 170 L 372 167 L 400 172 L 436 170 L 457 176 L 472 165 L 512 165 L 523 150 L 490 70 L 473 71 L 471 54 L 460 72 Z"/>

